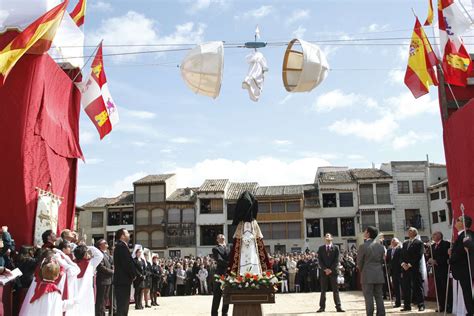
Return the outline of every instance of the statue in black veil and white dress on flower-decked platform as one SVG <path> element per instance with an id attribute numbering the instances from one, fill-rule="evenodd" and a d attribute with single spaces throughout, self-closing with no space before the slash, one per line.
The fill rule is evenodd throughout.
<path id="1" fill-rule="evenodd" d="M 263 235 L 257 223 L 258 201 L 244 191 L 235 206 L 232 225 L 237 225 L 229 259 L 229 270 L 237 275 L 261 275 L 272 269 Z"/>

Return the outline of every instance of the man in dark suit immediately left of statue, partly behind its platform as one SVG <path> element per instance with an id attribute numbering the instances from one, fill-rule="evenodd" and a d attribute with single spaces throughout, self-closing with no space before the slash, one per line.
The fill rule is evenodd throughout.
<path id="1" fill-rule="evenodd" d="M 212 256 L 216 261 L 216 274 L 226 275 L 227 267 L 229 265 L 229 250 L 225 244 L 225 236 L 222 234 L 217 235 L 217 246 L 212 248 Z M 214 281 L 213 285 L 213 297 L 212 297 L 212 308 L 211 316 L 217 316 L 219 313 L 219 305 L 221 304 L 222 289 L 221 284 L 218 281 Z M 227 316 L 229 311 L 229 305 L 222 305 L 222 316 Z"/>

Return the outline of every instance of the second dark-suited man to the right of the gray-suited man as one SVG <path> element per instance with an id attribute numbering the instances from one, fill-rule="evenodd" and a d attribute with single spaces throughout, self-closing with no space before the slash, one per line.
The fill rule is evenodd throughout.
<path id="1" fill-rule="evenodd" d="M 409 239 L 403 243 L 401 253 L 404 305 L 402 312 L 411 311 L 412 297 L 414 303 L 418 305 L 418 311 L 425 310 L 423 277 L 420 270 L 421 258 L 424 256 L 425 248 L 423 242 L 417 236 L 418 230 L 416 228 L 408 228 Z"/>

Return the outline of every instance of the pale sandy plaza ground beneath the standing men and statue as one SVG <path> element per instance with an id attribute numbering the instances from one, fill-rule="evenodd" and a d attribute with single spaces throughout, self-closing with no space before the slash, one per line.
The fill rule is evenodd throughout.
<path id="1" fill-rule="evenodd" d="M 341 292 L 342 307 L 346 313 L 336 313 L 332 294 L 327 296 L 326 312 L 318 315 L 365 315 L 365 305 L 362 292 Z M 145 310 L 135 311 L 133 305 L 130 305 L 129 315 L 147 316 L 147 315 L 210 315 L 212 296 L 181 296 L 181 297 L 163 297 L 158 303 L 159 307 L 146 308 Z M 267 316 L 307 316 L 316 315 L 318 309 L 319 293 L 298 293 L 298 294 L 277 294 L 276 304 L 263 305 L 263 313 Z M 414 307 L 413 311 L 400 312 L 400 308 L 391 308 L 390 302 L 385 302 L 387 315 L 442 315 L 435 313 L 436 302 L 427 302 L 426 310 L 418 312 Z M 220 315 L 220 314 L 219 314 Z M 229 316 L 232 315 L 232 305 Z M 251 315 L 249 315 L 251 316 Z"/>

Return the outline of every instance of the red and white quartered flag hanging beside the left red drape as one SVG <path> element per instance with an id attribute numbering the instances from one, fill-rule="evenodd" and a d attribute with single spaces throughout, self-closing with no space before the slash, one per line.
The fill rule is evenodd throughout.
<path id="1" fill-rule="evenodd" d="M 102 43 L 92 62 L 91 75 L 85 82 L 77 84 L 82 94 L 82 106 L 87 116 L 94 123 L 100 139 L 110 133 L 118 123 L 119 116 L 115 102 L 107 87 L 102 58 Z"/>

